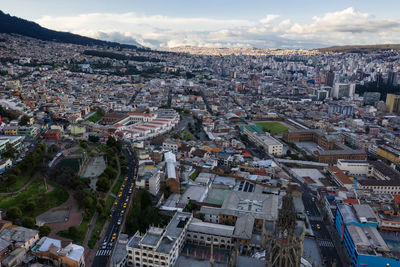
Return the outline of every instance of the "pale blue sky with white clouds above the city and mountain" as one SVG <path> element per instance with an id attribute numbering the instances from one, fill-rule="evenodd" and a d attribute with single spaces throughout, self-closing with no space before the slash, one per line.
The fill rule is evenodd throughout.
<path id="1" fill-rule="evenodd" d="M 0 10 L 153 49 L 400 43 L 399 0 L 0 0 Z"/>

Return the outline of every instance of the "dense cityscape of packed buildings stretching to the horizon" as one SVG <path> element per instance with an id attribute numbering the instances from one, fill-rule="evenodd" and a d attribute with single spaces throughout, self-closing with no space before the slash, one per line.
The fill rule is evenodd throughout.
<path id="1" fill-rule="evenodd" d="M 400 266 L 399 73 L 0 33 L 1 266 Z"/>

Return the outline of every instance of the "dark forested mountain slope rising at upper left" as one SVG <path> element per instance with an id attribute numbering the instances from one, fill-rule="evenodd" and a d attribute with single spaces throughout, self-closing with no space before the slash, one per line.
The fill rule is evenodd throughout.
<path id="1" fill-rule="evenodd" d="M 15 33 L 43 41 L 55 41 L 60 43 L 70 43 L 79 45 L 99 45 L 121 48 L 137 49 L 135 45 L 108 42 L 94 38 L 84 37 L 69 32 L 53 31 L 43 28 L 39 24 L 5 14 L 0 10 L 0 33 Z"/>

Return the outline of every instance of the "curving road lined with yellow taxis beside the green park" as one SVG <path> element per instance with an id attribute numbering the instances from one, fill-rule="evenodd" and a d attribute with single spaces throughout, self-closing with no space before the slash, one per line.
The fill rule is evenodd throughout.
<path id="1" fill-rule="evenodd" d="M 129 203 L 129 201 L 131 201 L 132 194 L 129 193 L 129 190 L 132 187 L 135 187 L 134 176 L 136 175 L 137 171 L 136 160 L 130 148 L 124 146 L 122 150 L 128 162 L 128 179 L 127 181 L 124 181 L 122 194 L 120 197 L 118 197 L 117 205 L 114 206 L 110 224 L 108 225 L 106 233 L 103 237 L 103 243 L 100 245 L 99 249 L 96 252 L 92 267 L 107 266 L 107 263 L 110 260 L 110 255 L 112 254 L 115 245 L 115 241 L 118 239 L 118 235 L 122 228 L 121 222 L 124 221 L 124 216 L 126 216 L 128 212 L 126 207 L 124 208 L 123 206 L 125 203 Z M 131 190 L 131 192 L 133 192 L 133 189 Z"/>

